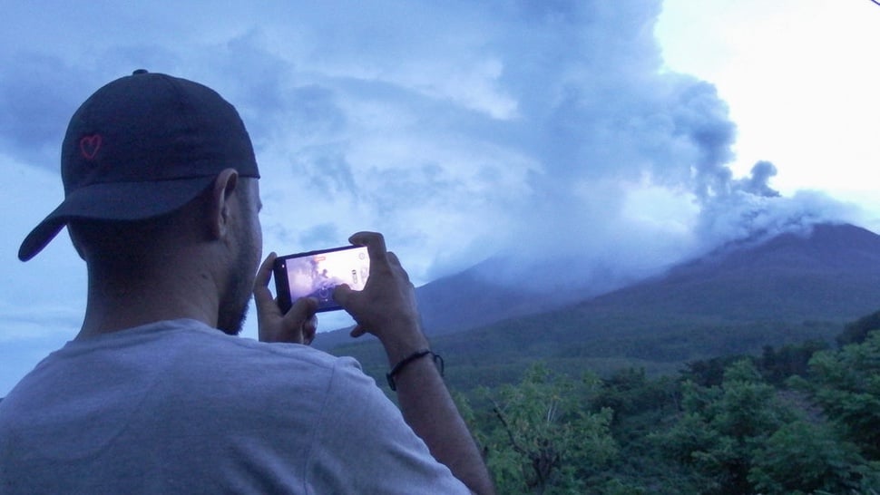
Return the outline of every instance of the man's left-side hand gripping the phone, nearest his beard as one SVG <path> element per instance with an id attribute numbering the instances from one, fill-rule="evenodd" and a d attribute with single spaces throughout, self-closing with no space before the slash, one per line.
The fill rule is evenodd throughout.
<path id="1" fill-rule="evenodd" d="M 294 303 L 286 315 L 282 315 L 278 303 L 269 292 L 269 278 L 275 258 L 275 253 L 270 253 L 254 278 L 259 341 L 310 345 L 318 331 L 318 317 L 315 315 L 318 301 L 304 297 Z"/>

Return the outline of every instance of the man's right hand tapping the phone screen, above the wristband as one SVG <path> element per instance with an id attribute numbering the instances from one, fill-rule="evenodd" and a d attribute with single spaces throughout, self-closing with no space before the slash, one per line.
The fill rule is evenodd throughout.
<path id="1" fill-rule="evenodd" d="M 357 322 L 351 336 L 376 335 L 392 362 L 425 348 L 416 289 L 395 254 L 386 250 L 385 238 L 376 232 L 358 232 L 348 241 L 366 246 L 370 257 L 370 276 L 364 290 L 342 285 L 333 293 L 337 304 Z"/>

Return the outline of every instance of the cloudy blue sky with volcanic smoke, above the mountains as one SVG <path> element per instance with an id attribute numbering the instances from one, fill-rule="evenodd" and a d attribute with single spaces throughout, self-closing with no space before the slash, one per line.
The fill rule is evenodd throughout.
<path id="1" fill-rule="evenodd" d="M 880 231 L 869 0 L 3 5 L 0 396 L 82 323 L 66 234 L 16 253 L 64 197 L 71 114 L 140 68 L 238 108 L 266 253 L 370 229 L 416 285 L 503 257 L 613 286 L 819 221 Z"/>

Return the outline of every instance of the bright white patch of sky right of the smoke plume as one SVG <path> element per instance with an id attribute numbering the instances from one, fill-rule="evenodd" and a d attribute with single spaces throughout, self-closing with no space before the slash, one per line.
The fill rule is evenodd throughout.
<path id="1" fill-rule="evenodd" d="M 869 0 L 665 0 L 673 70 L 713 82 L 738 125 L 734 170 L 779 169 L 784 194 L 819 189 L 880 211 L 880 5 Z M 875 222 L 871 227 L 880 226 Z"/>

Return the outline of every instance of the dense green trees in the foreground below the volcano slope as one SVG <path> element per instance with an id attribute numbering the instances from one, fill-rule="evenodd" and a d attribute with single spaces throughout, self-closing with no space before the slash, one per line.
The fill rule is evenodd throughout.
<path id="1" fill-rule="evenodd" d="M 458 394 L 501 493 L 880 493 L 880 313 L 810 341 Z"/>

